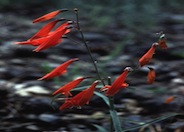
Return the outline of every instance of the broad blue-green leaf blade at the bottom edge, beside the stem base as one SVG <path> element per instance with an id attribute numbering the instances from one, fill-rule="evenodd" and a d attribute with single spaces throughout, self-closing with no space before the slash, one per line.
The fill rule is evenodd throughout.
<path id="1" fill-rule="evenodd" d="M 117 115 L 117 112 L 115 110 L 110 110 L 110 115 L 111 115 L 115 132 L 122 132 L 121 123 Z"/>

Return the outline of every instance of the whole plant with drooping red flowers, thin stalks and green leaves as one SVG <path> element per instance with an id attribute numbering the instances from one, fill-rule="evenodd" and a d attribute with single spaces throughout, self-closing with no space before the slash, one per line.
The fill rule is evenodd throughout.
<path id="1" fill-rule="evenodd" d="M 63 12 L 67 12 L 67 11 L 75 14 L 75 20 L 68 20 L 65 18 L 54 19 L 57 15 L 59 15 Z M 52 94 L 54 96 L 54 100 L 56 98 L 59 98 L 59 96 L 63 96 L 63 95 L 65 96 L 65 101 L 59 107 L 59 109 L 64 110 L 64 109 L 68 109 L 71 107 L 82 107 L 90 102 L 90 99 L 92 98 L 92 96 L 95 93 L 96 95 L 101 97 L 105 101 L 105 103 L 109 106 L 109 112 L 110 112 L 110 116 L 111 116 L 110 117 L 111 118 L 110 131 L 117 131 L 117 132 L 129 131 L 129 130 L 135 130 L 143 125 L 146 125 L 146 123 L 145 123 L 143 125 L 135 126 L 135 128 L 122 130 L 121 122 L 120 122 L 118 115 L 117 115 L 117 112 L 114 108 L 114 102 L 113 102 L 114 96 L 120 90 L 128 88 L 131 85 L 131 84 L 128 84 L 126 82 L 126 78 L 128 77 L 129 73 L 132 71 L 135 71 L 135 70 L 139 70 L 142 67 L 146 67 L 150 63 L 151 59 L 153 58 L 153 55 L 154 55 L 157 48 L 161 48 L 162 50 L 165 50 L 168 48 L 167 44 L 166 44 L 165 35 L 163 33 L 160 33 L 159 40 L 157 42 L 153 43 L 151 45 L 150 49 L 148 49 L 148 51 L 146 53 L 144 53 L 142 57 L 140 57 L 138 68 L 132 68 L 132 67 L 127 66 L 124 68 L 123 72 L 120 73 L 120 75 L 115 80 L 112 81 L 110 79 L 110 77 L 101 77 L 101 75 L 99 73 L 99 68 L 97 66 L 97 63 L 91 54 L 91 50 L 88 47 L 88 43 L 87 43 L 87 41 L 84 37 L 83 31 L 81 30 L 81 27 L 80 27 L 78 9 L 76 9 L 76 8 L 74 10 L 60 9 L 60 10 L 52 11 L 50 13 L 47 13 L 47 14 L 35 19 L 33 21 L 33 23 L 39 23 L 39 22 L 44 22 L 44 21 L 48 21 L 48 20 L 52 20 L 52 21 L 47 23 L 46 25 L 44 25 L 30 39 L 28 39 L 26 41 L 22 41 L 22 42 L 16 42 L 16 44 L 35 46 L 36 48 L 33 50 L 34 52 L 41 52 L 43 50 L 48 50 L 49 48 L 62 43 L 62 40 L 64 38 L 70 39 L 73 42 L 75 42 L 76 44 L 80 44 L 79 41 L 73 40 L 67 36 L 67 34 L 72 32 L 72 29 L 77 30 L 79 32 L 79 34 L 81 35 L 82 43 L 85 45 L 85 47 L 88 51 L 89 57 L 93 63 L 93 66 L 94 66 L 94 69 L 95 69 L 96 75 L 97 75 L 97 77 L 86 76 L 86 77 L 77 78 L 75 80 L 72 80 L 71 82 L 66 83 L 65 85 L 61 86 L 59 89 L 54 91 Z M 60 23 L 60 22 L 62 22 L 62 23 L 56 29 L 54 29 L 54 27 L 56 27 L 56 24 Z M 54 77 L 61 76 L 67 72 L 67 68 L 70 65 L 72 65 L 73 63 L 77 63 L 77 61 L 80 61 L 80 58 L 70 59 L 70 60 L 62 63 L 60 66 L 56 67 L 51 72 L 44 75 L 43 77 L 40 77 L 38 80 L 52 79 Z M 152 84 L 155 81 L 156 72 L 155 72 L 153 67 L 147 66 L 147 68 L 149 69 L 149 72 L 147 75 L 147 82 L 148 82 L 148 84 Z M 76 95 L 71 94 L 71 91 L 74 90 L 75 87 L 77 87 L 82 81 L 84 81 L 85 79 L 90 79 L 90 78 L 93 78 L 93 79 L 95 78 L 95 81 L 92 82 L 91 86 L 83 89 L 82 91 L 80 91 Z M 105 81 L 104 81 L 105 79 L 108 80 L 108 84 L 105 83 Z M 101 86 L 100 91 L 99 90 L 96 91 L 96 87 L 100 83 L 102 84 L 102 85 L 100 85 Z M 170 103 L 173 100 L 174 100 L 174 97 L 167 99 L 165 102 Z M 169 117 L 172 117 L 175 115 L 177 115 L 177 114 L 165 116 L 164 118 L 158 118 L 158 119 L 155 119 L 154 121 L 149 122 L 149 123 L 155 123 L 155 122 L 159 121 L 159 119 L 166 119 L 166 118 L 169 118 Z M 95 125 L 95 126 L 98 129 L 101 129 L 101 130 L 103 129 L 98 125 Z M 103 129 L 103 130 L 105 131 L 105 129 Z"/>

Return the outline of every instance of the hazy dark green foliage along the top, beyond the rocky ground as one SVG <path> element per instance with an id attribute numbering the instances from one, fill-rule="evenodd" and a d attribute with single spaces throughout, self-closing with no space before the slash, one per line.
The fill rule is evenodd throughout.
<path id="1" fill-rule="evenodd" d="M 0 9 L 29 6 L 41 10 L 43 5 L 54 9 L 77 7 L 90 25 L 104 28 L 116 24 L 139 33 L 152 29 L 163 14 L 184 10 L 183 0 L 0 0 Z"/>

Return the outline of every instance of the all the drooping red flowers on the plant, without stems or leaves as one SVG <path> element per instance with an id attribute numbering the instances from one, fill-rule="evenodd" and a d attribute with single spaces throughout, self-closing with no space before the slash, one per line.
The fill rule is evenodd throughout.
<path id="1" fill-rule="evenodd" d="M 33 21 L 33 23 L 38 22 L 44 22 L 53 19 L 56 15 L 68 11 L 66 9 L 56 10 L 53 12 L 50 12 L 48 14 L 45 14 Z M 74 10 L 76 11 L 76 10 Z M 58 26 L 56 29 L 54 27 L 57 25 L 57 23 L 63 22 Z M 36 49 L 33 51 L 40 52 L 42 50 L 46 50 L 52 46 L 55 46 L 57 44 L 60 44 L 62 42 L 62 38 L 66 36 L 71 31 L 71 24 L 75 24 L 74 27 L 78 26 L 79 30 L 79 22 L 67 20 L 67 19 L 54 19 L 48 24 L 44 25 L 35 35 L 33 35 L 30 39 L 22 42 L 16 42 L 16 44 L 20 45 L 32 45 L 37 46 Z M 81 32 L 81 30 L 79 31 Z M 84 37 L 84 36 L 82 36 Z M 84 38 L 83 38 L 84 39 Z M 85 42 L 85 40 L 84 40 Z M 160 39 L 157 43 L 153 43 L 151 48 L 139 59 L 140 67 L 143 67 L 147 65 L 155 53 L 156 47 L 160 47 L 162 49 L 167 49 L 166 45 L 166 39 L 164 34 L 160 36 Z M 78 61 L 79 58 L 73 58 L 70 59 L 60 66 L 53 69 L 51 72 L 47 73 L 43 77 L 39 78 L 38 80 L 46 80 L 46 79 L 52 79 L 56 76 L 61 76 L 64 73 L 67 72 L 68 66 L 70 66 L 72 63 Z M 149 68 L 148 72 L 148 83 L 151 84 L 155 81 L 155 70 L 151 67 Z M 131 67 L 126 67 L 123 72 L 112 82 L 112 84 L 106 85 L 101 88 L 101 91 L 105 92 L 106 96 L 112 97 L 115 94 L 117 94 L 121 89 L 124 89 L 129 86 L 129 84 L 126 83 L 126 78 L 129 72 L 131 72 L 133 69 Z M 58 90 L 53 92 L 53 96 L 55 95 L 64 95 L 65 96 L 65 102 L 60 106 L 60 110 L 70 108 L 70 107 L 81 107 L 85 104 L 88 104 L 91 97 L 94 94 L 96 86 L 102 82 L 103 80 L 98 79 L 92 83 L 92 85 L 89 88 L 84 89 L 83 91 L 79 92 L 75 96 L 71 94 L 71 90 L 77 87 L 83 80 L 88 79 L 90 77 L 80 77 L 75 80 L 72 80 L 71 82 L 61 86 Z"/>

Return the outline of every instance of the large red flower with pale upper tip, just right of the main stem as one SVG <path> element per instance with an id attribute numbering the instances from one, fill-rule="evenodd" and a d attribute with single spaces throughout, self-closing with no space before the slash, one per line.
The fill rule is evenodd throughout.
<path id="1" fill-rule="evenodd" d="M 111 86 L 109 86 L 109 85 L 105 86 L 107 89 L 107 91 L 106 91 L 107 96 L 114 96 L 116 93 L 119 92 L 119 90 L 121 88 L 125 88 L 128 86 L 128 84 L 125 83 L 125 80 L 126 80 L 126 77 L 130 71 L 132 71 L 132 68 L 126 67 L 124 69 L 123 73 L 114 80 L 114 82 L 112 83 Z M 105 88 L 102 88 L 102 89 L 105 89 Z"/>

